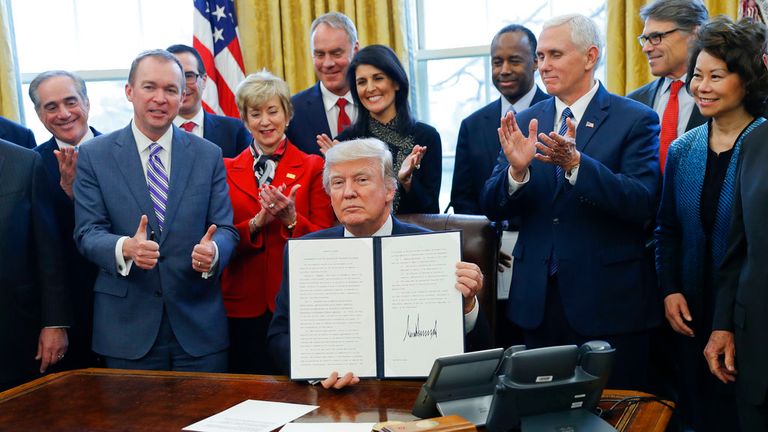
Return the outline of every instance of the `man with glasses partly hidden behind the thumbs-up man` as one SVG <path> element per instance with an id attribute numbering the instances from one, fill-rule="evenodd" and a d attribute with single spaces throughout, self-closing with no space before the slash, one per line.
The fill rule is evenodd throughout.
<path id="1" fill-rule="evenodd" d="M 167 51 L 181 62 L 186 83 L 184 100 L 173 124 L 221 147 L 224 157 L 239 155 L 251 144 L 251 134 L 240 119 L 211 114 L 203 109 L 208 75 L 200 53 L 191 46 L 180 44 L 169 46 Z"/>

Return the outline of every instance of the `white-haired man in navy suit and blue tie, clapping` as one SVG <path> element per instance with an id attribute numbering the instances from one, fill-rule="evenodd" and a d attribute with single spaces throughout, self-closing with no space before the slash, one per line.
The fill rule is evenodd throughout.
<path id="1" fill-rule="evenodd" d="M 616 348 L 609 385 L 645 388 L 648 329 L 660 319 L 643 254 L 659 122 L 594 78 L 601 51 L 585 16 L 544 24 L 536 54 L 554 98 L 502 119 L 480 206 L 494 221 L 520 218 L 507 316 L 526 345 L 606 340 Z"/>

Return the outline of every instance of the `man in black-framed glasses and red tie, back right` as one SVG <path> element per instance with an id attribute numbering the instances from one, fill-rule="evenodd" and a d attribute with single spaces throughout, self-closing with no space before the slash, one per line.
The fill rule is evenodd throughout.
<path id="1" fill-rule="evenodd" d="M 662 172 L 669 144 L 686 131 L 704 124 L 693 96 L 684 87 L 688 48 L 709 14 L 701 0 L 655 0 L 640 9 L 645 22 L 637 40 L 648 56 L 651 74 L 658 79 L 627 95 L 651 108 L 661 119 L 659 160 Z"/>

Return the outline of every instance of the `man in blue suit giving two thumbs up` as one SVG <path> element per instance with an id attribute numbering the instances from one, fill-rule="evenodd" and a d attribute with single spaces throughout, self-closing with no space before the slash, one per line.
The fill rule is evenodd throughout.
<path id="1" fill-rule="evenodd" d="M 110 368 L 227 368 L 219 276 L 239 237 L 221 149 L 173 125 L 183 94 L 176 57 L 140 54 L 133 120 L 79 151 L 74 237 L 99 267 L 93 350 Z"/>

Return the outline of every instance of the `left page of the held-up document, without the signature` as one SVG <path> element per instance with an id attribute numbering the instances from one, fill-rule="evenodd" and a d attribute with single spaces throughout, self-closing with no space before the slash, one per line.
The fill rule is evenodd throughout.
<path id="1" fill-rule="evenodd" d="M 375 377 L 373 239 L 291 240 L 288 259 L 291 378 Z"/>

